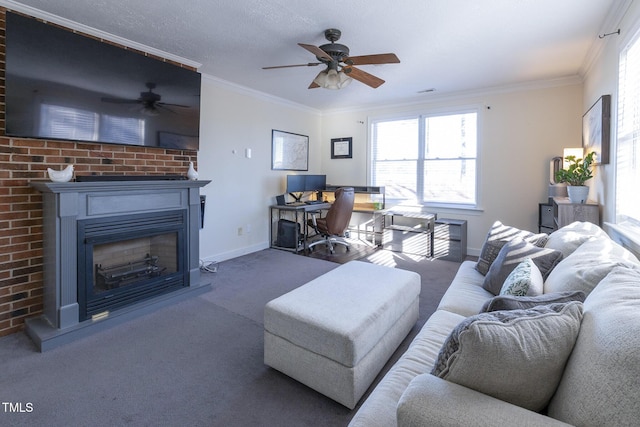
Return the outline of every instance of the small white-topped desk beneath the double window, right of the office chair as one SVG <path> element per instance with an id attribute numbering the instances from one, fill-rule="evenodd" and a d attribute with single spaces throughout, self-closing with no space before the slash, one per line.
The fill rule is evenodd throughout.
<path id="1" fill-rule="evenodd" d="M 380 214 L 383 249 L 433 257 L 436 214 L 408 206 L 384 209 Z"/>

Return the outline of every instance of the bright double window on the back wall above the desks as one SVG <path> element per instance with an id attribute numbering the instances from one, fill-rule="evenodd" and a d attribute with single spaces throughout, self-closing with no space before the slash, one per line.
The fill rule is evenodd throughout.
<path id="1" fill-rule="evenodd" d="M 371 184 L 388 199 L 477 205 L 478 113 L 374 120 Z"/>

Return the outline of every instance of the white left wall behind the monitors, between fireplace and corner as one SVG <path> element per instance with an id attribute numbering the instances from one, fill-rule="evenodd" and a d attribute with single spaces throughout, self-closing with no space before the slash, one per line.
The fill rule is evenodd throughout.
<path id="1" fill-rule="evenodd" d="M 201 110 L 198 173 L 211 183 L 200 192 L 207 196 L 200 257 L 222 261 L 264 249 L 268 206 L 292 173 L 271 170 L 271 130 L 308 135 L 307 173 L 320 173 L 320 116 L 209 76 L 202 79 Z"/>

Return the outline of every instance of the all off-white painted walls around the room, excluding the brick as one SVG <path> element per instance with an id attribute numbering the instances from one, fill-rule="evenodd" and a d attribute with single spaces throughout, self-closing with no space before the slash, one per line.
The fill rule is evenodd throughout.
<path id="1" fill-rule="evenodd" d="M 569 79 L 450 97 L 431 94 L 422 104 L 321 115 L 205 76 L 198 162 L 200 179 L 212 182 L 202 190 L 207 209 L 201 257 L 221 261 L 268 247 L 268 206 L 284 191 L 288 173 L 271 170 L 272 129 L 309 135 L 308 173 L 326 173 L 331 184 L 366 185 L 369 118 L 468 105 L 482 107 L 482 209 L 439 210 L 439 216 L 468 221 L 471 254 L 478 253 L 495 220 L 536 231 L 538 203 L 547 200 L 549 161 L 562 155 L 564 147 L 581 145 L 584 112 L 601 95 L 611 94 L 615 123 L 618 51 L 640 19 L 640 4 L 625 4 L 630 4 L 629 10 L 618 11 L 624 16 L 611 25 L 621 28 L 621 35 L 602 39 L 584 82 Z M 348 136 L 353 138 L 353 158 L 332 160 L 331 138 Z M 251 159 L 244 157 L 245 148 L 252 149 Z M 611 221 L 614 165 L 597 167 L 595 175 L 590 197 L 603 205 L 602 219 Z"/>

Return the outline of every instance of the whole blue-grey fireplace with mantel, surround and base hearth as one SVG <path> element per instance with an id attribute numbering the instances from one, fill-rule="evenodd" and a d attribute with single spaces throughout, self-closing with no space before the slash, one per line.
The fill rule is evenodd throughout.
<path id="1" fill-rule="evenodd" d="M 41 351 L 203 292 L 200 187 L 209 181 L 37 182 L 43 193 Z"/>

